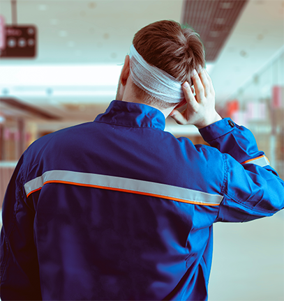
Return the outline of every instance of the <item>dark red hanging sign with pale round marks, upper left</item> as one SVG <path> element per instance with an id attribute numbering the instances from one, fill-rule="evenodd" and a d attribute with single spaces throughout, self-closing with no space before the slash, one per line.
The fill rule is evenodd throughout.
<path id="1" fill-rule="evenodd" d="M 6 47 L 0 49 L 0 59 L 33 58 L 36 56 L 36 26 L 6 25 Z"/>

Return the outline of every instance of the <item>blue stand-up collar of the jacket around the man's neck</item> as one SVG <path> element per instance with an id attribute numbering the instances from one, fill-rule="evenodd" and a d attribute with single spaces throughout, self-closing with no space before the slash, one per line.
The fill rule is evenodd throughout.
<path id="1" fill-rule="evenodd" d="M 165 116 L 158 109 L 137 102 L 121 100 L 110 102 L 105 113 L 98 115 L 95 121 L 131 128 L 165 129 Z"/>

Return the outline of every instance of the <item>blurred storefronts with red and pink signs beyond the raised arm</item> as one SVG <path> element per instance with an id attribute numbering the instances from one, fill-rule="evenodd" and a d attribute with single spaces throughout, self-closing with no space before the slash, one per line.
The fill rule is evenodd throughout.
<path id="1" fill-rule="evenodd" d="M 221 116 L 253 132 L 258 148 L 284 178 L 284 52 L 217 106 Z"/>

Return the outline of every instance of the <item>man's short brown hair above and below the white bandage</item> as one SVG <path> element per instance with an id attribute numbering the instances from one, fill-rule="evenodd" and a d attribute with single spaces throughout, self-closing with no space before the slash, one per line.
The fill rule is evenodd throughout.
<path id="1" fill-rule="evenodd" d="M 147 63 L 164 70 L 179 82 L 186 82 L 193 69 L 205 64 L 204 47 L 198 33 L 171 20 L 143 27 L 135 34 L 133 45 Z M 177 105 L 158 100 L 135 84 L 133 89 L 135 96 L 149 105 L 163 108 Z"/>

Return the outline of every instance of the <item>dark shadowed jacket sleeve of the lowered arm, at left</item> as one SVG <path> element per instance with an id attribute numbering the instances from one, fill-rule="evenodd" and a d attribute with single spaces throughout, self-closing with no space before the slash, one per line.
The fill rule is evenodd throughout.
<path id="1" fill-rule="evenodd" d="M 39 301 L 38 256 L 33 240 L 35 210 L 22 185 L 22 158 L 17 164 L 3 201 L 0 245 L 1 301 Z"/>

